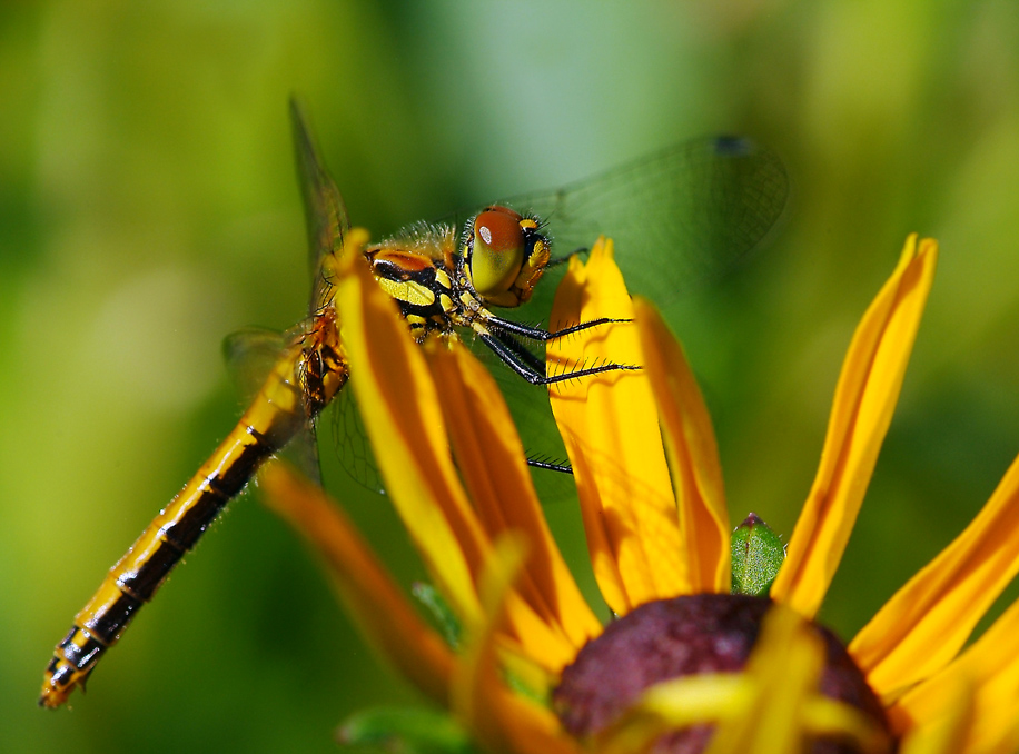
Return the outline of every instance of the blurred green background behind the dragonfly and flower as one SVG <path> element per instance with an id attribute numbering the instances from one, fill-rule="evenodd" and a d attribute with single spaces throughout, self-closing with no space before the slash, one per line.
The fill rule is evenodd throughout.
<path id="1" fill-rule="evenodd" d="M 4 752 L 327 752 L 352 710 L 414 698 L 246 496 L 89 694 L 36 707 L 75 612 L 238 415 L 224 335 L 304 311 L 291 91 L 376 234 L 684 137 L 776 149 L 794 185 L 783 231 L 673 325 L 715 417 L 732 515 L 786 534 L 858 317 L 908 232 L 939 238 L 902 400 L 822 614 L 843 636 L 1019 450 L 1011 0 L 85 6 L 0 10 Z M 348 498 L 335 463 L 326 479 Z M 402 577 L 416 574 L 392 513 L 349 499 Z M 577 553 L 572 510 L 550 516 Z"/>

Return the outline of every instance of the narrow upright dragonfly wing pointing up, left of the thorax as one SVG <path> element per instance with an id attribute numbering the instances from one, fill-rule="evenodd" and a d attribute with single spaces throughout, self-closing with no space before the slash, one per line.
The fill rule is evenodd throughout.
<path id="1" fill-rule="evenodd" d="M 308 268 L 311 274 L 311 300 L 308 311 L 314 314 L 325 304 L 330 285 L 323 275 L 323 259 L 343 247 L 344 234 L 350 228 L 350 219 L 339 189 L 326 171 L 321 152 L 308 128 L 307 118 L 294 98 L 290 99 L 290 121 L 294 127 L 294 149 L 297 152 L 298 179 L 308 226 Z"/>

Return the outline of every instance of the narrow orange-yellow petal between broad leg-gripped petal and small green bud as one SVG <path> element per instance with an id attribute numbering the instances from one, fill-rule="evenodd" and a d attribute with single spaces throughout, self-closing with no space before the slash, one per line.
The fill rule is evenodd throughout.
<path id="1" fill-rule="evenodd" d="M 647 301 L 637 298 L 633 304 L 690 558 L 686 591 L 729 592 L 729 512 L 711 415 L 683 349 L 665 323 Z"/>

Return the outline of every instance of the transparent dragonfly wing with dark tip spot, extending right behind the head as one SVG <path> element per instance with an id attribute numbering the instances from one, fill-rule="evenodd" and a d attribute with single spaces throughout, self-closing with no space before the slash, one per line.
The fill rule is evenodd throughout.
<path id="1" fill-rule="evenodd" d="M 546 220 L 557 256 L 612 237 L 631 290 L 664 301 L 743 258 L 788 197 L 789 178 L 774 152 L 723 137 L 679 143 L 505 204 Z"/>

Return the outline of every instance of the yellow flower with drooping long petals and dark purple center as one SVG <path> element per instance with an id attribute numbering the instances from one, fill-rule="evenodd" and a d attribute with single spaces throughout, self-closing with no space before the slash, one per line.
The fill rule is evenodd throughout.
<path id="1" fill-rule="evenodd" d="M 422 349 L 406 337 L 359 262 L 366 240 L 349 235 L 338 270 L 353 389 L 373 445 L 384 448 L 377 460 L 389 496 L 463 626 L 461 649 L 422 621 L 320 489 L 283 466 L 263 484 L 324 554 L 365 636 L 484 748 L 670 751 L 677 736 L 720 754 L 801 751 L 807 740 L 855 752 L 891 751 L 894 740 L 909 754 L 1019 747 L 1019 603 L 962 648 L 1019 569 L 1019 505 L 1010 505 L 1019 464 L 848 653 L 811 622 L 891 420 L 934 241 L 910 237 L 857 328 L 771 601 L 729 594 L 718 450 L 680 346 L 650 305 L 631 302 L 611 242 L 600 241 L 586 266 L 571 262 L 553 319 L 634 324 L 555 344 L 550 368 L 644 366 L 552 390 L 594 574 L 619 616 L 603 627 L 552 538 L 489 375 L 458 344 Z M 686 643 L 676 645 L 681 634 Z M 702 667 L 662 677 L 680 655 Z"/>

